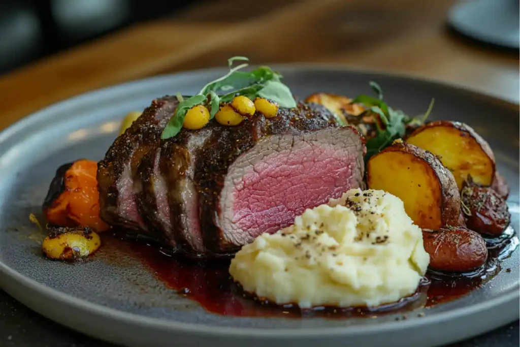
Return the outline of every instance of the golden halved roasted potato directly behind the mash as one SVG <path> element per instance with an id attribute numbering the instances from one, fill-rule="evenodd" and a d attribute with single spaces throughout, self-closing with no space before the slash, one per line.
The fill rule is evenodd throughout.
<path id="1" fill-rule="evenodd" d="M 399 197 L 421 228 L 458 225 L 460 195 L 453 175 L 424 149 L 394 142 L 368 161 L 367 183 Z"/>

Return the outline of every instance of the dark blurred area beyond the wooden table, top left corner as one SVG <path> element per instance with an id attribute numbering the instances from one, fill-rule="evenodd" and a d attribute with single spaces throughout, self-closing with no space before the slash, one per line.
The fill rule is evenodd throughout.
<path id="1" fill-rule="evenodd" d="M 1 0 L 0 74 L 197 0 Z"/>

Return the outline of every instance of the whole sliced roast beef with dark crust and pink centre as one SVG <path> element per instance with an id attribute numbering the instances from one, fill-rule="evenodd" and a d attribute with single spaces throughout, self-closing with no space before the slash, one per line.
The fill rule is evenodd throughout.
<path id="1" fill-rule="evenodd" d="M 363 138 L 320 105 L 299 103 L 273 119 L 255 114 L 237 126 L 213 120 L 159 140 L 159 116 L 169 118 L 175 103 L 157 102 L 100 163 L 99 190 L 103 219 L 160 236 L 172 250 L 233 254 L 362 186 Z"/>

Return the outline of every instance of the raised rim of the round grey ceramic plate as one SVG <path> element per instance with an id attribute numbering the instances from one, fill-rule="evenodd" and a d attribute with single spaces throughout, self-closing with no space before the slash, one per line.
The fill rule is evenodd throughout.
<path id="1" fill-rule="evenodd" d="M 276 70 L 283 70 L 287 72 L 304 72 L 304 71 L 313 71 L 313 72 L 331 72 L 331 71 L 339 71 L 342 73 L 358 73 L 358 74 L 374 74 L 374 75 L 382 75 L 390 78 L 396 78 L 401 80 L 411 80 L 415 82 L 421 82 L 425 84 L 437 84 L 443 88 L 450 88 L 458 93 L 463 93 L 466 95 L 470 95 L 473 97 L 478 97 L 480 99 L 485 98 L 486 101 L 491 102 L 498 107 L 506 107 L 512 110 L 517 110 L 519 106 L 514 104 L 511 101 L 503 100 L 497 98 L 495 96 L 490 96 L 486 94 L 482 94 L 478 91 L 473 91 L 471 89 L 461 87 L 460 85 L 439 82 L 431 79 L 423 79 L 418 78 L 417 76 L 401 74 L 401 73 L 386 73 L 384 71 L 378 71 L 373 69 L 363 69 L 363 68 L 345 68 L 344 66 L 337 65 L 329 65 L 329 64 L 305 64 L 305 63 L 297 63 L 291 65 L 272 65 L 272 67 Z M 54 113 L 60 112 L 62 109 L 66 109 L 71 104 L 77 104 L 78 102 L 86 103 L 96 101 L 98 98 L 104 96 L 107 92 L 110 91 L 110 97 L 115 97 L 118 93 L 128 92 L 129 88 L 146 88 L 147 85 L 157 85 L 165 83 L 166 81 L 171 80 L 172 78 L 189 78 L 191 75 L 199 75 L 204 73 L 215 73 L 216 71 L 226 71 L 226 69 L 222 68 L 214 68 L 214 69 L 202 69 L 202 70 L 193 70 L 183 73 L 170 74 L 157 76 L 154 78 L 138 80 L 133 82 L 127 82 L 124 84 L 119 84 L 115 86 L 109 86 L 102 89 L 97 89 L 93 92 L 88 92 L 61 102 L 57 104 L 46 107 L 40 111 L 33 113 L 32 115 L 12 124 L 8 128 L 6 128 L 3 132 L 0 133 L 0 145 L 6 142 L 7 139 L 16 135 L 19 131 L 21 131 L 24 127 L 30 125 L 34 121 L 44 121 L 47 118 L 53 117 Z M 20 273 L 14 271 L 6 264 L 0 261 L 0 287 L 2 287 L 7 293 L 12 295 L 12 297 L 21 301 L 24 304 L 27 304 L 31 309 L 45 315 L 49 316 L 51 319 L 57 320 L 59 323 L 64 325 L 68 325 L 72 328 L 82 330 L 74 324 L 70 322 L 65 322 L 63 319 L 59 319 L 55 314 L 48 314 L 41 310 L 41 307 L 48 307 L 48 303 L 55 303 L 63 305 L 64 307 L 69 307 L 70 309 L 80 310 L 84 312 L 91 313 L 95 316 L 111 318 L 117 320 L 121 323 L 125 323 L 128 325 L 140 326 L 143 328 L 156 328 L 160 330 L 169 330 L 175 331 L 179 333 L 196 333 L 200 334 L 209 334 L 212 336 L 234 336 L 234 337 L 256 337 L 256 338 L 270 338 L 270 337 L 283 337 L 283 338 L 302 338 L 302 337 L 316 337 L 317 335 L 327 334 L 327 336 L 356 336 L 356 335 L 367 335 L 370 333 L 383 333 L 383 332 L 391 332 L 391 331 L 402 331 L 411 328 L 417 328 L 419 326 L 428 326 L 434 325 L 443 322 L 450 322 L 453 320 L 457 320 L 463 317 L 471 317 L 472 315 L 483 313 L 486 311 L 500 311 L 501 308 L 513 305 L 514 307 L 518 307 L 520 303 L 520 291 L 518 288 L 513 288 L 502 294 L 500 297 L 493 298 L 484 302 L 480 302 L 477 304 L 473 304 L 466 307 L 461 307 L 457 309 L 453 309 L 447 312 L 435 313 L 432 315 L 426 315 L 424 318 L 417 320 L 408 320 L 408 321 L 400 321 L 400 322 L 385 322 L 378 325 L 373 326 L 356 326 L 356 327 L 334 327 L 334 328 L 316 328 L 316 329 L 299 329 L 299 328 L 287 328 L 287 329 L 257 329 L 257 328 L 231 328 L 231 327 L 211 327 L 202 324 L 187 324 L 180 322 L 172 322 L 166 321 L 159 318 L 151 318 L 144 317 L 136 314 L 125 313 L 122 311 L 110 309 L 108 307 L 104 307 L 98 304 L 94 304 L 87 300 L 78 299 L 72 297 L 72 295 L 60 292 L 55 289 L 51 289 L 46 287 L 30 278 L 27 278 Z M 18 289 L 21 287 L 34 291 L 38 294 L 39 297 L 49 300 L 46 305 L 37 305 L 34 302 L 29 303 L 31 300 L 27 300 L 27 298 L 23 298 L 23 295 L 18 295 Z M 471 295 L 471 294 L 470 294 Z M 36 307 L 39 306 L 40 308 Z M 479 330 L 478 333 L 485 332 L 487 330 L 491 330 L 500 325 L 507 324 L 512 322 L 515 319 L 518 319 L 520 313 L 511 317 L 503 317 L 500 322 L 495 322 L 496 324 L 490 324 L 489 328 L 485 330 Z M 87 331 L 84 331 L 87 332 Z M 474 334 L 473 334 L 474 335 Z M 466 335 L 466 336 L 469 336 Z"/>

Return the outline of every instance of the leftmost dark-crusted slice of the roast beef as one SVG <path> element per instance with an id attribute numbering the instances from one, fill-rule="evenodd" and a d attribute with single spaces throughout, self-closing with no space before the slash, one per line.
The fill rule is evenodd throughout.
<path id="1" fill-rule="evenodd" d="M 145 223 L 137 208 L 134 177 L 142 158 L 159 146 L 162 130 L 177 105 L 176 97 L 153 100 L 152 105 L 115 140 L 105 158 L 99 162 L 101 218 L 110 225 L 148 232 L 149 223 Z M 137 186 L 138 191 L 139 188 Z"/>

